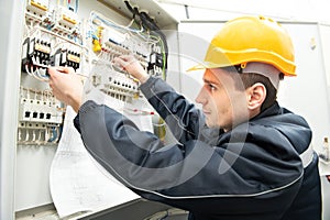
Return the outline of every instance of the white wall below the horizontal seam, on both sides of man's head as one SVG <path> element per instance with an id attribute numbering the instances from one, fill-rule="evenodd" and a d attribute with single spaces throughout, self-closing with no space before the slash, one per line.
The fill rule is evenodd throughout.
<path id="1" fill-rule="evenodd" d="M 204 59 L 208 44 L 223 22 L 183 22 L 179 24 L 182 66 L 182 92 L 194 101 L 201 87 L 202 72 L 186 73 L 186 69 Z M 278 101 L 283 107 L 301 114 L 314 131 L 314 147 L 322 148 L 323 136 L 330 136 L 330 105 L 323 50 L 317 23 L 283 23 L 289 32 L 295 52 L 297 77 L 282 81 Z M 202 30 L 202 31 L 200 31 Z M 323 38 L 329 38 L 323 35 Z M 316 47 L 311 48 L 310 42 Z M 194 46 L 191 46 L 194 45 Z M 329 54 L 328 54 L 329 55 Z"/>

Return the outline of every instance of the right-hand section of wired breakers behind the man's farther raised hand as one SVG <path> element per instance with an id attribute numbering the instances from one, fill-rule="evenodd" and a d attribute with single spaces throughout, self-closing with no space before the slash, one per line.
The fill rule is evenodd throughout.
<path id="1" fill-rule="evenodd" d="M 97 12 L 91 13 L 89 22 L 89 26 L 94 29 L 91 33 L 94 52 L 91 58 L 96 64 L 91 73 L 94 86 L 123 101 L 132 102 L 139 98 L 139 81 L 111 64 L 114 57 L 121 55 L 134 56 L 150 75 L 163 77 L 165 69 L 162 69 L 163 66 L 155 66 L 152 58 L 155 48 L 160 47 L 160 38 L 141 30 L 133 30 L 132 26 L 116 24 Z M 133 23 L 134 20 L 130 25 Z"/>

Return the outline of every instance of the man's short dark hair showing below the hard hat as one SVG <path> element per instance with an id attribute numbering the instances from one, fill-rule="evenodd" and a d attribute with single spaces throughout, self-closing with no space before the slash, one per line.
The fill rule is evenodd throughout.
<path id="1" fill-rule="evenodd" d="M 260 74 L 255 73 L 244 73 L 244 74 L 237 74 L 239 77 L 234 77 L 235 79 L 235 87 L 237 89 L 246 89 L 251 86 L 253 86 L 256 82 L 263 84 L 266 88 L 266 98 L 264 102 L 261 106 L 261 111 L 264 111 L 268 107 L 275 103 L 277 99 L 277 89 L 273 86 L 271 80 Z M 279 79 L 283 79 L 283 74 L 279 74 Z"/>

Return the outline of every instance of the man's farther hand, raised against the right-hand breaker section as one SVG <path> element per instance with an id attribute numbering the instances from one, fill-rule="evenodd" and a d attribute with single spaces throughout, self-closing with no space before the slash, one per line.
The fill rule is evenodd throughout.
<path id="1" fill-rule="evenodd" d="M 131 76 L 144 84 L 148 79 L 148 75 L 132 55 L 122 55 L 113 59 L 114 65 L 125 69 Z"/>

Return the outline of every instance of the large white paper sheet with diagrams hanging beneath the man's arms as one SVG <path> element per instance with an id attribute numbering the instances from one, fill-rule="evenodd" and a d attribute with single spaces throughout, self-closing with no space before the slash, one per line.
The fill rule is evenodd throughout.
<path id="1" fill-rule="evenodd" d="M 127 106 L 114 98 L 105 99 L 105 96 L 96 90 L 87 98 L 103 101 L 119 111 Z M 74 128 L 75 116 L 76 113 L 68 107 L 62 139 L 50 174 L 51 193 L 58 216 L 63 218 L 81 211 L 94 212 L 139 198 L 89 155 L 80 134 Z M 139 113 L 127 116 L 142 130 L 152 131 L 151 116 Z"/>

